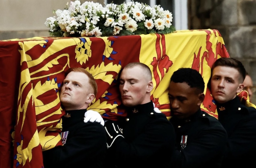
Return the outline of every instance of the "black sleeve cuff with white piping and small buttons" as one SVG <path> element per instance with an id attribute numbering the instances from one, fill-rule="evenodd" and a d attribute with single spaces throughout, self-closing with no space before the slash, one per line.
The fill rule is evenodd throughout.
<path id="1" fill-rule="evenodd" d="M 105 130 L 107 134 L 107 147 L 110 148 L 118 137 L 123 137 L 122 129 L 119 128 L 115 121 L 107 121 L 105 123 Z"/>

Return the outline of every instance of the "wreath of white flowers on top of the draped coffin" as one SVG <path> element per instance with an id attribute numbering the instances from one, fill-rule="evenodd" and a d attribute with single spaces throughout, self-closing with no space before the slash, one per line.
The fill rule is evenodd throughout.
<path id="1" fill-rule="evenodd" d="M 69 7 L 68 7 L 69 5 Z M 147 33 L 148 30 L 164 30 L 172 25 L 172 13 L 164 10 L 160 5 L 151 7 L 139 2 L 128 2 L 120 5 L 106 4 L 103 7 L 99 3 L 86 1 L 83 4 L 79 0 L 66 4 L 68 9 L 56 10 L 56 16 L 46 19 L 45 25 L 49 28 L 50 35 L 70 34 L 87 36 L 117 35 L 120 32 L 129 34 L 127 31 L 140 34 L 137 31 L 138 22 L 140 31 Z M 101 30 L 113 30 L 112 34 L 102 34 Z M 103 31 L 104 33 L 108 31 Z M 171 32 L 171 29 L 166 29 Z"/>

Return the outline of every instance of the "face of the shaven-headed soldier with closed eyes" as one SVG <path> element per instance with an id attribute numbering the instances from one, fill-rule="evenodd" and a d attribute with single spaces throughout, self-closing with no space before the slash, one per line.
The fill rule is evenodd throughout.
<path id="1" fill-rule="evenodd" d="M 140 67 L 124 68 L 119 85 L 123 104 L 130 107 L 148 103 L 152 85 Z"/>

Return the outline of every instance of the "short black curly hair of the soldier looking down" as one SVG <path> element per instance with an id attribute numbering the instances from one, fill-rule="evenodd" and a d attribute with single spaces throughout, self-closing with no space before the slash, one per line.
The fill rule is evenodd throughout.
<path id="1" fill-rule="evenodd" d="M 201 74 L 195 69 L 179 68 L 171 77 L 171 82 L 183 83 L 186 82 L 190 88 L 197 88 L 201 93 L 204 92 L 205 82 Z"/>

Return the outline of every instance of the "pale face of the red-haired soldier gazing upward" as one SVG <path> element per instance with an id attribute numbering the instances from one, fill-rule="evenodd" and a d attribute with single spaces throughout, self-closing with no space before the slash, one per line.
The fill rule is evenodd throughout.
<path id="1" fill-rule="evenodd" d="M 63 80 L 60 91 L 60 102 L 65 110 L 86 109 L 90 101 L 90 87 L 86 74 L 71 71 Z"/>

